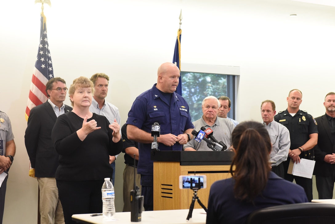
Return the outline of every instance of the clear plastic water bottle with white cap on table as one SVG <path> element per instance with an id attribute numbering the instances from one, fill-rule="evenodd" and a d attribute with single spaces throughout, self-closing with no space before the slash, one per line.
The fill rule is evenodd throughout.
<path id="1" fill-rule="evenodd" d="M 115 214 L 115 194 L 114 186 L 109 177 L 105 178 L 101 192 L 103 199 L 103 217 L 106 217 L 107 219 L 113 219 L 112 217 Z"/>

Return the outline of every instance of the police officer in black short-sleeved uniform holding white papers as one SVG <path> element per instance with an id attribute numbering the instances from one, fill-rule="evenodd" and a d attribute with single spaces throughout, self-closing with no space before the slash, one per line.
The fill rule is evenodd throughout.
<path id="1" fill-rule="evenodd" d="M 287 97 L 287 109 L 274 116 L 274 120 L 284 125 L 290 132 L 291 147 L 288 156 L 294 162 L 300 158 L 314 160 L 313 147 L 318 142 L 318 128 L 315 119 L 306 111 L 299 109 L 303 94 L 292 89 Z M 285 180 L 293 181 L 302 186 L 309 201 L 313 199 L 312 179 L 287 174 L 290 160 L 284 162 Z"/>

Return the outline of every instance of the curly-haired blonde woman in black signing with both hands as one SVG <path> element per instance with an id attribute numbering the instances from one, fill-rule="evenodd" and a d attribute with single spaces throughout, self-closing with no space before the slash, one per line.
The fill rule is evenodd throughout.
<path id="1" fill-rule="evenodd" d="M 120 125 L 89 111 L 94 91 L 86 77 L 75 79 L 69 89 L 73 110 L 60 115 L 52 130 L 59 154 L 56 171 L 58 194 L 66 224 L 73 214 L 101 213 L 101 187 L 112 177 L 110 155 L 122 151 Z"/>

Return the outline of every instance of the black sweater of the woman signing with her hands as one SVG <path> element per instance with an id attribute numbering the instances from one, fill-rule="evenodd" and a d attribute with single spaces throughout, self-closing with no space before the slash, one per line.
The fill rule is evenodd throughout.
<path id="1" fill-rule="evenodd" d="M 122 151 L 122 139 L 114 143 L 112 130 L 106 117 L 93 113 L 97 127 L 81 141 L 76 133 L 82 127 L 83 120 L 73 112 L 60 115 L 52 130 L 52 142 L 59 154 L 59 166 L 56 180 L 103 180 L 112 177 L 113 168 L 109 164 L 109 155 Z"/>

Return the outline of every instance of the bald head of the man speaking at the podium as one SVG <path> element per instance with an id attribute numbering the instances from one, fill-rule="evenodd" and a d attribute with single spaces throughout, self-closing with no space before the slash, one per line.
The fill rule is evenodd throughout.
<path id="1" fill-rule="evenodd" d="M 171 62 L 161 64 L 157 71 L 157 89 L 164 93 L 173 93 L 179 84 L 180 71 Z"/>

